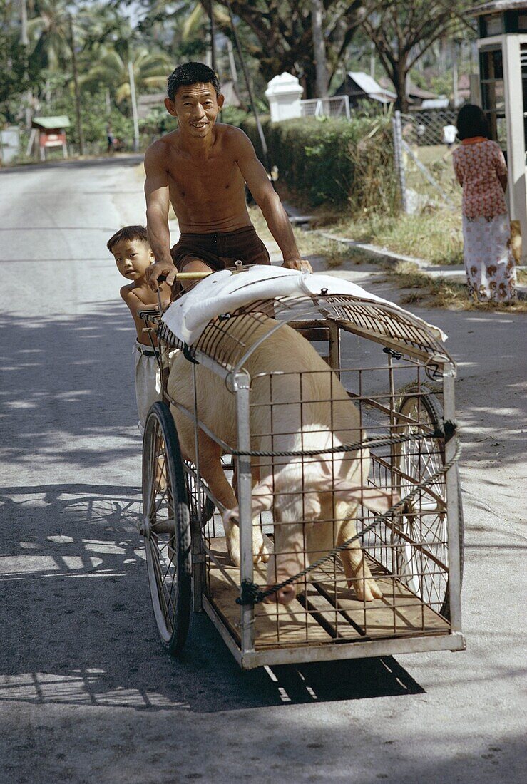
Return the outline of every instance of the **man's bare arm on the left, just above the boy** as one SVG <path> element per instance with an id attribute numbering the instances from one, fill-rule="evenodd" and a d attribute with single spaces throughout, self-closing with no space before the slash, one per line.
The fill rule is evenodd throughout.
<path id="1" fill-rule="evenodd" d="M 162 144 L 154 143 L 148 147 L 144 156 L 144 170 L 147 175 L 144 194 L 147 199 L 148 241 L 155 259 L 155 263 L 147 270 L 147 279 L 151 289 L 157 291 L 160 275 L 165 275 L 167 283 L 172 285 L 176 274 L 170 256 L 169 176 Z"/>

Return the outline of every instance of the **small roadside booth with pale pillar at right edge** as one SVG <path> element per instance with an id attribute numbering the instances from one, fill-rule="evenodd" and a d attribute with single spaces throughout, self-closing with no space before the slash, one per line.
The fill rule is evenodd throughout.
<path id="1" fill-rule="evenodd" d="M 493 0 L 473 9 L 478 17 L 482 109 L 492 139 L 507 158 L 511 220 L 522 227 L 527 260 L 527 2 Z"/>

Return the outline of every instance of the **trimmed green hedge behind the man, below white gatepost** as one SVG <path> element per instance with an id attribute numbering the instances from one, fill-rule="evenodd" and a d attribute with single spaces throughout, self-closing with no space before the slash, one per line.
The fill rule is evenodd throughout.
<path id="1" fill-rule="evenodd" d="M 270 165 L 278 167 L 281 180 L 307 205 L 371 209 L 376 198 L 372 188 L 385 185 L 386 178 L 394 180 L 391 124 L 386 118 L 299 118 L 271 123 L 264 117 L 262 126 Z M 246 118 L 241 127 L 261 158 L 254 118 Z M 379 183 L 371 183 L 366 171 L 377 171 Z M 395 193 L 390 188 L 388 201 Z M 394 209 L 394 205 L 387 207 L 386 193 L 377 195 L 379 206 Z"/>

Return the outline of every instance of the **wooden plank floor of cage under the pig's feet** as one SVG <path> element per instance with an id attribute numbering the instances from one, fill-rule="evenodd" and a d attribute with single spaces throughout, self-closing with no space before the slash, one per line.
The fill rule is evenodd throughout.
<path id="1" fill-rule="evenodd" d="M 223 537 L 212 539 L 210 547 L 224 571 L 209 562 L 207 595 L 240 644 L 240 607 L 236 604 L 240 572 L 229 561 Z M 449 633 L 449 622 L 441 615 L 373 561 L 369 560 L 369 566 L 383 591 L 382 599 L 358 601 L 336 561 L 312 572 L 305 593 L 289 604 L 256 604 L 256 650 Z M 254 582 L 265 586 L 265 564 L 255 566 Z"/>

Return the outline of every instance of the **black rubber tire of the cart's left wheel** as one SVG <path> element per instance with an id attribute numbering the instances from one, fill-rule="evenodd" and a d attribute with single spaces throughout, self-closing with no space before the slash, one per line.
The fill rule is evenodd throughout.
<path id="1" fill-rule="evenodd" d="M 147 509 L 149 499 L 153 497 L 154 503 L 157 494 L 154 483 L 157 481 L 158 471 L 158 457 L 162 452 L 162 448 L 155 452 L 151 448 L 153 439 L 156 434 L 161 434 L 162 441 L 164 442 L 165 452 L 165 474 L 167 478 L 167 497 L 169 497 L 169 488 L 172 491 L 173 499 L 173 517 L 175 521 L 175 532 L 170 538 L 167 535 L 167 552 L 168 542 L 173 550 L 173 556 L 170 557 L 170 562 L 175 566 L 175 574 L 171 579 L 171 586 L 169 597 L 172 597 L 174 591 L 173 601 L 173 615 L 166 620 L 165 612 L 162 608 L 162 603 L 159 598 L 160 589 L 160 575 L 155 568 L 159 564 L 158 548 L 154 545 L 158 539 L 155 540 L 145 539 L 145 546 L 147 549 L 147 568 L 148 568 L 148 582 L 150 585 L 150 593 L 152 600 L 152 608 L 154 610 L 154 618 L 158 626 L 158 633 L 161 639 L 163 648 L 171 655 L 179 654 L 187 641 L 188 627 L 191 616 L 191 599 L 192 599 L 192 552 L 191 552 L 191 524 L 190 513 L 187 503 L 187 485 L 184 474 L 183 460 L 180 452 L 180 442 L 177 437 L 176 426 L 174 425 L 173 417 L 170 413 L 169 407 L 164 402 L 157 402 L 151 406 L 147 415 L 147 421 L 144 428 L 143 438 L 143 510 L 144 514 Z M 167 510 L 167 517 L 168 517 Z M 151 537 L 155 536 L 154 530 L 151 532 Z M 157 550 L 157 554 L 156 554 Z M 168 572 L 167 572 L 168 573 Z"/>

